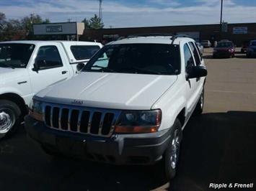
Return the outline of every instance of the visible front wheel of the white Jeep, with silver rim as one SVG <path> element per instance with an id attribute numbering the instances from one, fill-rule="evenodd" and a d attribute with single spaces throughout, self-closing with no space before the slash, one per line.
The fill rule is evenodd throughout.
<path id="1" fill-rule="evenodd" d="M 164 153 L 164 169 L 167 180 L 172 180 L 177 171 L 177 163 L 180 154 L 180 142 L 182 140 L 182 126 L 178 119 L 172 127 L 171 139 L 169 146 Z"/>

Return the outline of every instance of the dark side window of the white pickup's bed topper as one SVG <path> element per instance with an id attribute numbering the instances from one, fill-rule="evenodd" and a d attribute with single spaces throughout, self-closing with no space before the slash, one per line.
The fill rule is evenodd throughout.
<path id="1" fill-rule="evenodd" d="M 87 60 L 90 59 L 98 50 L 99 46 L 71 46 L 70 47 L 72 54 L 76 60 Z"/>

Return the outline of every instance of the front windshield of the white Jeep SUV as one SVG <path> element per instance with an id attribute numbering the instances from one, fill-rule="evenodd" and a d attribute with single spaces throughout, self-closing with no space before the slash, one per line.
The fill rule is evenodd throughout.
<path id="1" fill-rule="evenodd" d="M 177 75 L 180 48 L 165 44 L 106 45 L 87 63 L 83 71 Z"/>

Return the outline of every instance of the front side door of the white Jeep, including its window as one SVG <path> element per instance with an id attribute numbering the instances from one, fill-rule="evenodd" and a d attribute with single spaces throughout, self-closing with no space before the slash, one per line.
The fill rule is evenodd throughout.
<path id="1" fill-rule="evenodd" d="M 185 60 L 185 75 L 187 76 L 190 70 L 195 67 L 195 59 L 193 57 L 193 52 L 190 50 L 190 45 L 185 43 L 183 47 L 184 51 L 184 60 Z M 190 78 L 187 80 L 187 117 L 189 117 L 193 113 L 193 109 L 195 108 L 195 104 L 197 103 L 198 95 L 195 93 L 197 90 L 197 80 L 196 78 Z"/>

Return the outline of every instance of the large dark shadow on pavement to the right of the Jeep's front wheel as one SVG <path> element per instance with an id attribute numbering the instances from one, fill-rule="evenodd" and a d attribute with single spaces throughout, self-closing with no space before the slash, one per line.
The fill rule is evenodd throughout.
<path id="1" fill-rule="evenodd" d="M 255 182 L 256 112 L 206 113 L 191 118 L 183 135 L 180 167 L 170 190 Z"/>

